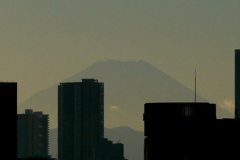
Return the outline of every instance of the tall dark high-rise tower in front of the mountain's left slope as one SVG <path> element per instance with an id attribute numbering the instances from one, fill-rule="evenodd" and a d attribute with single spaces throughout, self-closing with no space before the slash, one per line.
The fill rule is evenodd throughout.
<path id="1" fill-rule="evenodd" d="M 58 86 L 58 159 L 94 160 L 104 136 L 104 84 L 95 79 Z"/>

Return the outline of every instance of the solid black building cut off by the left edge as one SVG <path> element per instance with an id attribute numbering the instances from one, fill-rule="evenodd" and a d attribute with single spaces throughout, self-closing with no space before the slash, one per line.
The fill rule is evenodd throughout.
<path id="1" fill-rule="evenodd" d="M 1 153 L 9 153 L 8 159 L 17 158 L 17 83 L 0 82 L 1 103 Z M 6 114 L 4 116 L 4 114 Z M 5 145 L 4 142 L 7 144 Z"/>

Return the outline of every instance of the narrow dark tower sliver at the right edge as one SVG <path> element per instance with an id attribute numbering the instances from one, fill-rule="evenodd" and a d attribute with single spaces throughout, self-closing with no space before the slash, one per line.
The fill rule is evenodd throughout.
<path id="1" fill-rule="evenodd" d="M 240 118 L 240 49 L 235 50 L 235 118 Z"/>

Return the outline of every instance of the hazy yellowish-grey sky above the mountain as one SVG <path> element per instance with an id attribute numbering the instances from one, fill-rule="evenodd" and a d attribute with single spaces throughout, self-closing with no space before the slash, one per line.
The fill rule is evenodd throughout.
<path id="1" fill-rule="evenodd" d="M 239 0 L 1 0 L 0 81 L 18 102 L 110 59 L 144 60 L 233 106 Z"/>

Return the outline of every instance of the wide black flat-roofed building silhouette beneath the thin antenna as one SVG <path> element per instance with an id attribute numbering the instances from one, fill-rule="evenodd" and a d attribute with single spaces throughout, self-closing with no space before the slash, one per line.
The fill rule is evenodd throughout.
<path id="1" fill-rule="evenodd" d="M 146 103 L 144 160 L 233 160 L 239 119 L 217 119 L 209 103 Z"/>

